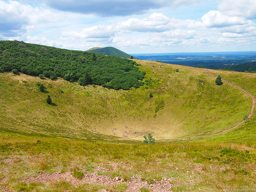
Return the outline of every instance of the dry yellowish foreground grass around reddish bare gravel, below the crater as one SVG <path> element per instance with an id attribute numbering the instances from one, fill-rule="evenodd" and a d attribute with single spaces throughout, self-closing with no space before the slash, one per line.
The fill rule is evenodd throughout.
<path id="1" fill-rule="evenodd" d="M 50 139 L 38 143 L 29 141 L 29 138 L 26 140 L 27 142 L 1 145 L 0 174 L 5 180 L 0 185 L 1 190 L 5 186 L 14 191 L 21 191 L 21 187 L 33 186 L 38 190 L 40 188 L 39 191 L 46 191 L 49 188 L 47 183 L 24 184 L 22 181 L 40 173 L 51 174 L 68 170 L 74 171 L 74 177 L 81 179 L 84 174 L 81 170 L 88 170 L 90 173 L 92 167 L 98 166 L 109 168 L 109 171 L 101 171 L 100 175 L 110 178 L 119 176 L 127 178 L 127 181 L 138 175 L 148 183 L 167 178 L 174 185 L 173 191 L 220 191 L 226 188 L 253 188 L 256 185 L 256 151 L 255 148 L 245 145 L 103 144 Z M 57 185 L 55 191 L 85 189 L 84 185 L 78 189 L 68 181 L 51 185 Z M 102 187 L 123 191 L 127 186 L 122 183 L 116 187 Z"/>

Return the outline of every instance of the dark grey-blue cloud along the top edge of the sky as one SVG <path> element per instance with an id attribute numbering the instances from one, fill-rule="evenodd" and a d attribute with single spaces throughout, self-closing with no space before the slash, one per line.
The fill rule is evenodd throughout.
<path id="1" fill-rule="evenodd" d="M 48 6 L 62 11 L 99 16 L 130 16 L 144 14 L 150 9 L 189 5 L 200 0 L 38 0 Z"/>

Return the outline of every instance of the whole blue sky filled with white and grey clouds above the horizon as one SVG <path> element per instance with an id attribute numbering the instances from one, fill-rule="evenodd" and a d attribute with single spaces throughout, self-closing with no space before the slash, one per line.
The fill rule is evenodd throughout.
<path id="1" fill-rule="evenodd" d="M 0 40 L 130 54 L 256 51 L 256 0 L 0 0 Z"/>

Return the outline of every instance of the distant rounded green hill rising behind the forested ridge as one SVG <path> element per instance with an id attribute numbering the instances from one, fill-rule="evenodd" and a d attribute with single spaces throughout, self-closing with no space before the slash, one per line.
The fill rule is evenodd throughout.
<path id="1" fill-rule="evenodd" d="M 127 59 L 131 58 L 131 55 L 129 55 L 117 48 L 114 48 L 114 47 L 103 47 L 103 48 L 102 47 L 93 47 L 87 51 L 98 53 L 98 54 L 103 54 L 103 55 L 115 55 L 115 56 L 123 57 L 123 58 L 127 58 Z M 134 59 L 137 59 L 137 58 L 134 57 Z"/>

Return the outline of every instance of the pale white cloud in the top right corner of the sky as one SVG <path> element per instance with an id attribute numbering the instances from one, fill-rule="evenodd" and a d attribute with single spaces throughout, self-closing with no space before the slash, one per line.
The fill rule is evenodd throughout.
<path id="1" fill-rule="evenodd" d="M 229 16 L 240 16 L 256 19 L 255 0 L 221 0 L 218 9 Z"/>

